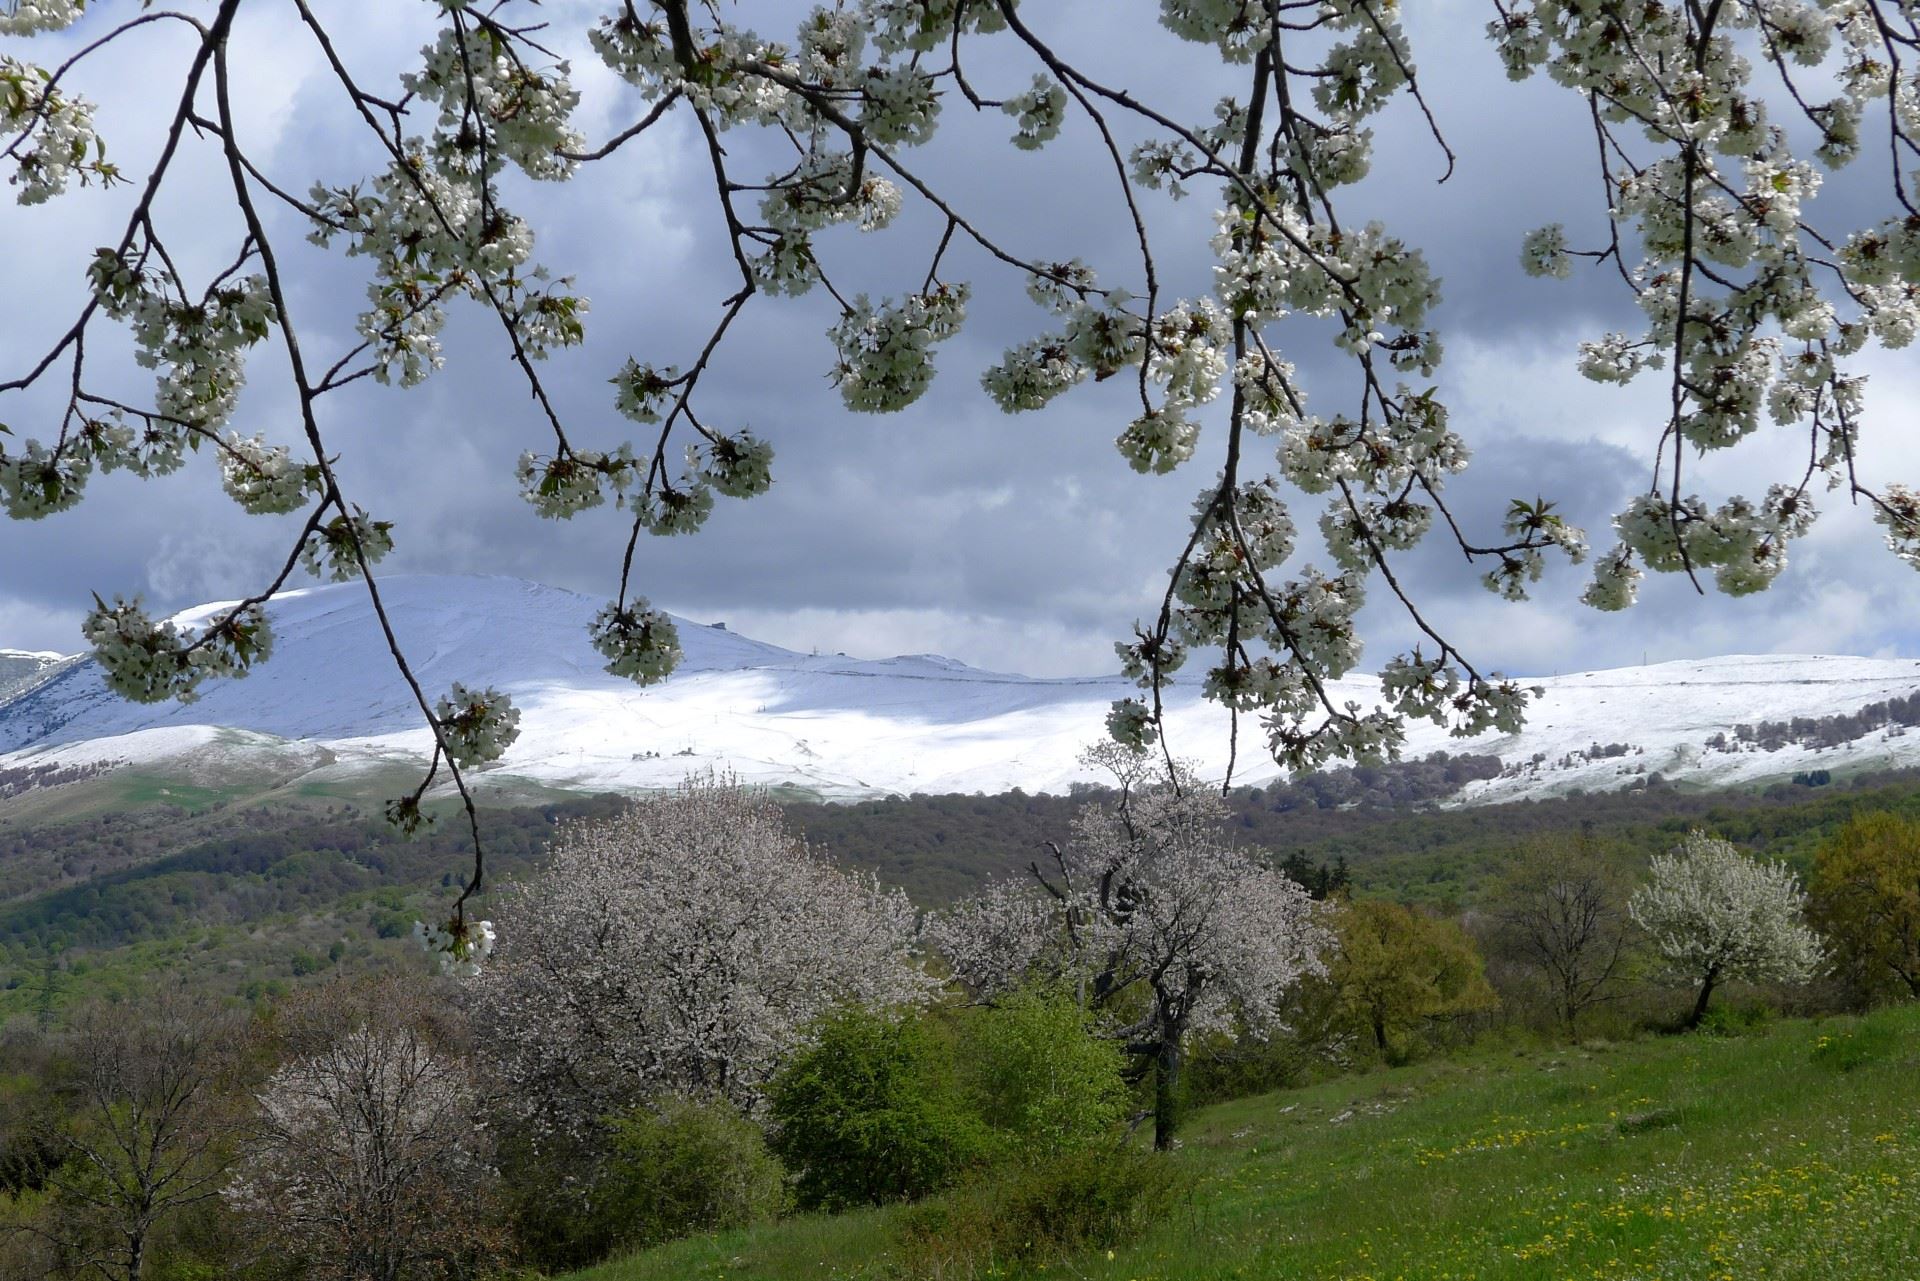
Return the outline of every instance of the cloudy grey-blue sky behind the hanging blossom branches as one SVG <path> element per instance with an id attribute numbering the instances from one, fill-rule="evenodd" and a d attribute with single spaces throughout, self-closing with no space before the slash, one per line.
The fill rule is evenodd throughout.
<path id="1" fill-rule="evenodd" d="M 15 56 L 52 61 L 54 50 L 98 33 L 106 10 L 61 40 Z M 186 6 L 211 8 L 211 6 Z M 397 0 L 328 0 L 348 61 L 367 85 L 392 85 L 430 38 L 434 6 Z M 524 8 L 524 6 L 522 6 Z M 599 6 L 605 8 L 605 6 Z M 762 6 L 768 33 L 789 27 L 795 4 Z M 1158 6 L 1140 0 L 1052 0 L 1031 6 L 1058 48 L 1108 83 L 1127 83 L 1169 113 L 1204 121 L 1212 102 L 1244 88 L 1217 63 L 1152 27 Z M 1663 421 L 1663 392 L 1586 384 L 1572 371 L 1580 338 L 1628 328 L 1634 313 L 1617 278 L 1530 280 L 1519 271 L 1521 236 L 1565 221 L 1574 240 L 1603 234 L 1592 131 L 1580 104 L 1549 85 L 1511 85 L 1478 35 L 1473 0 L 1419 6 L 1411 27 L 1427 94 L 1459 154 L 1452 181 L 1419 117 L 1396 108 L 1379 127 L 1373 177 L 1352 194 L 1348 217 L 1382 217 L 1417 242 L 1444 278 L 1436 323 L 1448 359 L 1440 394 L 1475 447 L 1455 486 L 1457 507 L 1492 530 L 1509 497 L 1544 494 L 1586 524 L 1597 547 L 1607 520 L 1645 482 Z M 292 21 L 292 6 L 248 6 L 236 35 L 238 94 L 248 146 L 275 179 L 305 190 L 315 179 L 348 182 L 374 167 L 319 52 Z M 595 142 L 637 119 L 643 106 L 597 65 L 576 36 L 595 6 L 541 6 L 555 42 L 574 54 L 584 92 L 578 123 Z M 1142 33 L 1144 31 L 1144 33 Z M 781 31 L 781 35 L 787 35 Z M 77 86 L 98 104 L 111 157 L 144 173 L 171 109 L 186 44 L 163 29 L 109 48 Z M 1016 92 L 1031 61 L 1004 40 L 973 56 L 985 92 Z M 1127 275 L 1127 227 L 1112 169 L 1085 119 L 1069 121 L 1041 154 L 1006 148 L 1010 121 L 973 119 L 948 104 L 941 138 L 912 161 L 981 227 L 1035 257 L 1079 255 Z M 728 136 L 733 161 L 755 175 L 768 140 Z M 232 255 L 238 232 L 223 200 L 225 173 L 207 142 L 190 142 L 159 202 L 161 227 L 188 275 L 205 278 Z M 768 159 L 770 163 L 770 159 Z M 1212 200 L 1152 200 L 1165 286 L 1208 286 Z M 131 188 L 77 190 L 48 205 L 0 204 L 0 361 L 13 376 L 71 323 L 94 246 L 115 242 Z M 564 186 L 513 184 L 509 204 L 536 227 L 540 261 L 580 280 L 593 309 L 589 342 L 543 371 L 574 440 L 622 438 L 609 375 L 626 355 L 685 365 L 733 288 L 714 213 L 705 154 L 687 117 L 674 117 Z M 1836 184 L 1822 200 L 1837 227 L 1872 221 L 1868 196 Z M 275 215 L 296 278 L 294 311 L 321 363 L 351 344 L 367 277 L 355 259 L 300 244 L 292 213 Z M 837 278 L 876 296 L 918 284 L 939 225 L 908 211 L 889 232 L 852 229 L 824 240 Z M 937 651 L 964 661 L 1068 674 L 1112 666 L 1112 641 L 1154 609 L 1179 549 L 1192 495 L 1213 474 L 1221 432 L 1173 476 L 1137 476 L 1112 447 L 1131 417 L 1127 388 L 1085 386 L 1037 415 L 1006 417 L 979 390 L 998 351 L 1041 332 L 1048 317 L 1021 280 L 981 254 L 956 252 L 948 278 L 973 282 L 968 330 L 945 346 L 933 390 L 910 411 L 860 417 L 826 380 L 831 300 L 756 300 L 703 384 L 703 417 L 749 424 L 776 446 L 774 490 L 751 503 L 720 499 L 693 538 L 647 540 L 639 588 L 668 609 L 797 649 L 858 655 Z M 119 346 L 115 346 L 119 344 Z M 1323 328 L 1281 334 L 1319 405 L 1344 392 Z M 447 332 L 447 369 L 411 392 L 367 380 L 323 401 L 323 426 L 340 453 L 349 499 L 396 522 L 388 572 L 493 572 L 611 595 L 624 544 L 611 507 L 572 522 L 540 520 L 518 501 L 513 465 L 543 447 L 543 426 L 505 361 L 497 325 L 467 307 Z M 90 350 L 104 388 L 140 394 L 111 328 Z M 115 369 L 115 365 L 119 369 Z M 1878 480 L 1920 480 L 1914 405 L 1920 376 L 1908 353 L 1874 355 L 1864 471 Z M 298 442 L 298 423 L 271 355 L 252 365 L 236 426 Z M 1125 382 L 1116 378 L 1116 384 Z M 58 388 L 56 388 L 58 394 Z M 52 432 L 58 403 L 42 394 L 0 398 L 0 423 L 17 436 Z M 1791 472 L 1805 438 L 1772 430 L 1734 455 L 1695 469 L 1703 495 L 1759 492 Z M 271 578 L 298 519 L 240 515 L 215 482 L 211 459 L 136 482 L 96 478 L 77 511 L 40 522 L 0 520 L 0 647 L 79 647 L 90 592 L 144 593 L 157 607 L 242 595 Z M 1816 532 L 1793 549 L 1791 568 L 1759 597 L 1699 597 L 1684 580 L 1647 584 L 1638 609 L 1597 615 L 1578 603 L 1582 570 L 1553 572 L 1526 605 L 1507 605 L 1438 545 L 1407 557 L 1402 576 L 1423 609 L 1476 661 L 1519 674 L 1619 666 L 1711 653 L 1920 653 L 1920 580 L 1882 547 L 1864 513 L 1830 497 Z M 1311 528 L 1317 507 L 1296 509 Z M 1411 643 L 1404 615 L 1384 603 L 1365 615 L 1369 661 Z"/>

